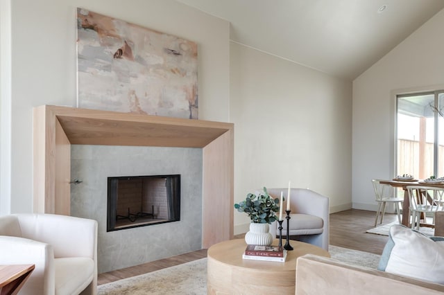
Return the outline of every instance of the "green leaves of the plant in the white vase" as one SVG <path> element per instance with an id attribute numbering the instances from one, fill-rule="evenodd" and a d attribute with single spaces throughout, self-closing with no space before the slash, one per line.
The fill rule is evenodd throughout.
<path id="1" fill-rule="evenodd" d="M 273 199 L 264 187 L 264 193 L 258 195 L 248 193 L 244 201 L 234 204 L 234 208 L 239 212 L 247 213 L 254 223 L 271 224 L 278 219 L 275 212 L 279 211 L 279 199 Z"/>

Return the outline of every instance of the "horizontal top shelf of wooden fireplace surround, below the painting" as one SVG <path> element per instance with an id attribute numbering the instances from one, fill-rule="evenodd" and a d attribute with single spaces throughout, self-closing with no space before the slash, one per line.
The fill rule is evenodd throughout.
<path id="1" fill-rule="evenodd" d="M 44 109 L 54 113 L 69 142 L 79 145 L 205 147 L 233 126 L 74 107 L 44 106 Z"/>

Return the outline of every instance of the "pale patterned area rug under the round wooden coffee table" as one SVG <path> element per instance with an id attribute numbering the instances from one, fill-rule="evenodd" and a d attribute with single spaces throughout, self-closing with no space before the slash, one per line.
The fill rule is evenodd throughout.
<path id="1" fill-rule="evenodd" d="M 330 245 L 333 259 L 376 268 L 379 255 Z M 99 295 L 207 294 L 207 258 L 99 285 Z"/>

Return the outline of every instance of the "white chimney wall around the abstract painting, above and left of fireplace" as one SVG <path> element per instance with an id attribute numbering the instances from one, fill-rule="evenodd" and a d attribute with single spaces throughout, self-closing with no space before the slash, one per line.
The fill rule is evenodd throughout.
<path id="1" fill-rule="evenodd" d="M 227 21 L 173 0 L 1 0 L 1 40 L 6 39 L 0 51 L 2 214 L 33 210 L 33 107 L 76 105 L 76 7 L 197 42 L 199 118 L 229 120 Z M 8 19 L 9 33 L 3 26 Z M 8 37 L 10 51 L 3 46 Z M 8 105 L 10 120 L 3 118 Z"/>

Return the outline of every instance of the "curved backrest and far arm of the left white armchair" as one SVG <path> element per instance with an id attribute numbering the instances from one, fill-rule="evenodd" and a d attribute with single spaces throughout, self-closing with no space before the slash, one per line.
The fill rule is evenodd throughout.
<path id="1" fill-rule="evenodd" d="M 54 258 L 96 260 L 97 222 L 52 214 L 17 214 L 24 238 L 51 244 Z"/>

